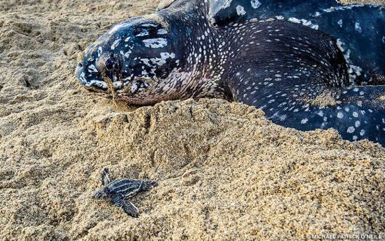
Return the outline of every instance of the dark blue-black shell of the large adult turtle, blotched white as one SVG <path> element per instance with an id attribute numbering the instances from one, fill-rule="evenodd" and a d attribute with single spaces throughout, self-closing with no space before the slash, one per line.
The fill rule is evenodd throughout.
<path id="1" fill-rule="evenodd" d="M 384 7 L 343 6 L 335 0 L 163 0 L 160 7 L 177 7 L 189 1 L 208 4 L 213 26 L 274 18 L 321 30 L 338 40 L 351 82 L 370 84 L 370 76 L 385 75 Z"/>

